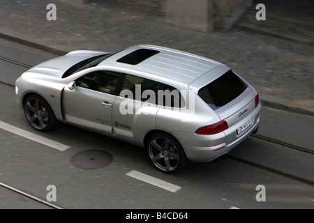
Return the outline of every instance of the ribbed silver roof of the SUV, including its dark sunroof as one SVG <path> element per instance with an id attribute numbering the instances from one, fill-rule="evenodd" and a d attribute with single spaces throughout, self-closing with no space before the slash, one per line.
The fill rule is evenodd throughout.
<path id="1" fill-rule="evenodd" d="M 190 84 L 221 63 L 167 47 L 136 45 L 105 59 L 99 66 L 118 66 Z"/>

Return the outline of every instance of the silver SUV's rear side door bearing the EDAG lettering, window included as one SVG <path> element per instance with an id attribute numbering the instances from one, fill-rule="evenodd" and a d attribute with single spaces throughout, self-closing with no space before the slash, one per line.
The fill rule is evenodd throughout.
<path id="1" fill-rule="evenodd" d="M 158 85 L 151 79 L 125 76 L 112 110 L 114 137 L 141 144 L 144 134 L 156 129 Z"/>

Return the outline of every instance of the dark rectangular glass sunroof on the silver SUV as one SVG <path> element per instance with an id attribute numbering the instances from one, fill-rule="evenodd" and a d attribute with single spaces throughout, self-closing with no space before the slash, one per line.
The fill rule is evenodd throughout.
<path id="1" fill-rule="evenodd" d="M 160 51 L 154 49 L 137 49 L 134 52 L 131 52 L 124 57 L 121 57 L 119 60 L 117 60 L 117 62 L 136 65 L 148 59 L 149 57 L 158 54 L 159 52 Z"/>

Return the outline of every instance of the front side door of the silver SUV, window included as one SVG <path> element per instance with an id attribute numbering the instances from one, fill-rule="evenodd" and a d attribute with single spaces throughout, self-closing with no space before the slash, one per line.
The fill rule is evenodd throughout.
<path id="1" fill-rule="evenodd" d="M 63 90 L 63 114 L 68 123 L 101 134 L 112 134 L 112 106 L 120 73 L 94 71 L 78 78 L 74 89 Z"/>

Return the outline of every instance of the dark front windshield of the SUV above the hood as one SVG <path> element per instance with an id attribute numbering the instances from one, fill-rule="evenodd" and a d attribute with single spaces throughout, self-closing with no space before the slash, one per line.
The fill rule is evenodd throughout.
<path id="1" fill-rule="evenodd" d="M 73 75 L 75 72 L 79 72 L 87 68 L 96 67 L 99 63 L 107 59 L 109 56 L 112 56 L 112 54 L 94 56 L 84 61 L 81 61 L 80 63 L 77 63 L 75 64 L 75 66 L 72 66 L 70 69 L 66 70 L 66 72 L 62 75 L 62 78 L 68 77 L 70 75 Z"/>

